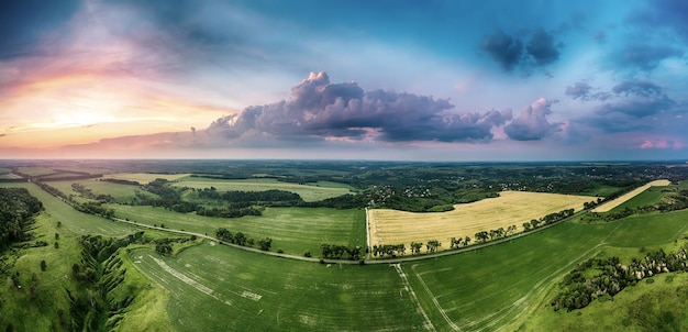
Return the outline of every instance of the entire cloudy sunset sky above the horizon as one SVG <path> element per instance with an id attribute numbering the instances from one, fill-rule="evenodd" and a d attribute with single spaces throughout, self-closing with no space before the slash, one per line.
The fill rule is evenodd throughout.
<path id="1" fill-rule="evenodd" d="M 24 0 L 0 158 L 688 159 L 688 2 Z"/>

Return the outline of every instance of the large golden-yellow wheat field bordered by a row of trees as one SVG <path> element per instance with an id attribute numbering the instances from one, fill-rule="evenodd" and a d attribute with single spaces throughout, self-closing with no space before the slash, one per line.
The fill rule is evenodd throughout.
<path id="1" fill-rule="evenodd" d="M 467 204 L 456 204 L 453 211 L 414 213 L 390 209 L 368 210 L 370 245 L 426 243 L 437 240 L 440 250 L 450 247 L 451 237 L 470 236 L 480 231 L 517 225 L 562 210 L 582 209 L 584 202 L 593 201 L 591 196 L 572 196 L 543 192 L 502 191 L 498 198 L 488 198 Z"/>

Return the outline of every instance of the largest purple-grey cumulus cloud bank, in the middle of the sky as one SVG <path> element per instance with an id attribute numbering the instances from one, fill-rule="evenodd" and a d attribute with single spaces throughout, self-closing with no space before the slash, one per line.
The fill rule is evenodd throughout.
<path id="1" fill-rule="evenodd" d="M 406 92 L 364 91 L 355 82 L 330 84 L 312 73 L 291 89 L 292 98 L 246 108 L 223 117 L 204 131 L 210 137 L 240 140 L 374 140 L 381 142 L 473 142 L 492 137 L 491 129 L 511 111 L 451 114 L 446 99 Z"/>

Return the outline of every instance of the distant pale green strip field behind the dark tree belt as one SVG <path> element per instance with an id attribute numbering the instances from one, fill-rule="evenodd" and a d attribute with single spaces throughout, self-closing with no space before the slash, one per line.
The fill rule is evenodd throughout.
<path id="1" fill-rule="evenodd" d="M 319 181 L 314 184 L 299 185 L 292 182 L 282 182 L 273 178 L 224 180 L 200 177 L 184 177 L 180 179 L 179 182 L 174 184 L 174 186 L 197 189 L 210 188 L 212 186 L 220 191 L 264 191 L 270 189 L 279 189 L 296 192 L 301 196 L 304 201 L 319 201 L 326 198 L 337 197 L 345 193 L 351 193 L 354 189 L 351 186 L 331 181 Z"/>

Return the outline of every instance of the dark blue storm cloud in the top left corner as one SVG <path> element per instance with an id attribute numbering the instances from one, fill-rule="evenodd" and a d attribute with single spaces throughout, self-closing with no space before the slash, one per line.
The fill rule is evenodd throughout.
<path id="1" fill-rule="evenodd" d="M 0 10 L 0 59 L 24 56 L 48 33 L 58 31 L 81 1 L 4 1 Z"/>

